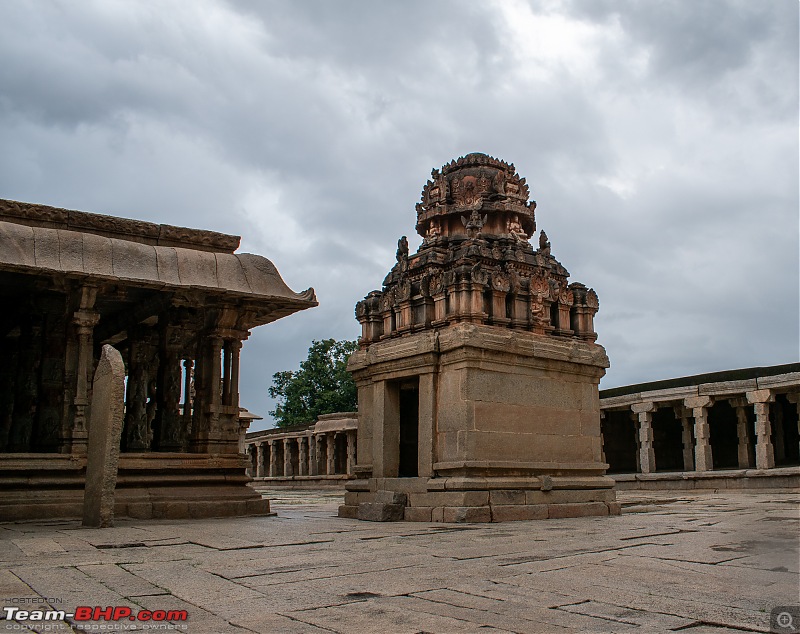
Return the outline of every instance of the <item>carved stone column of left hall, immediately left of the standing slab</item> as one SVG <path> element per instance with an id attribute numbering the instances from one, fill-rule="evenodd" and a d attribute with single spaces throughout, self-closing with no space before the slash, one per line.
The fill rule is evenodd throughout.
<path id="1" fill-rule="evenodd" d="M 100 321 L 100 315 L 94 310 L 97 289 L 84 286 L 80 289 L 80 308 L 75 312 L 72 323 L 78 338 L 78 361 L 75 386 L 75 424 L 72 428 L 72 453 L 85 454 L 89 407 L 89 385 L 94 372 L 93 333 Z"/>

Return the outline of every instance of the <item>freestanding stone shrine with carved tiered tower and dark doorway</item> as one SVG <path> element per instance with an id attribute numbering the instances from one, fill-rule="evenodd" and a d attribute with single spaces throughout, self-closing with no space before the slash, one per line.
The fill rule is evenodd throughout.
<path id="1" fill-rule="evenodd" d="M 423 237 L 356 306 L 355 480 L 342 517 L 488 522 L 618 513 L 602 459 L 596 293 L 570 283 L 513 164 L 433 170 Z"/>

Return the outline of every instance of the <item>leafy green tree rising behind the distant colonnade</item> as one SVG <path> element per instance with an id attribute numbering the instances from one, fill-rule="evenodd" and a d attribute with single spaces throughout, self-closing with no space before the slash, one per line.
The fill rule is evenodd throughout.
<path id="1" fill-rule="evenodd" d="M 355 341 L 312 341 L 299 370 L 273 374 L 269 395 L 278 403 L 270 415 L 278 427 L 311 423 L 320 414 L 354 411 L 358 397 L 347 359 L 357 348 Z"/>

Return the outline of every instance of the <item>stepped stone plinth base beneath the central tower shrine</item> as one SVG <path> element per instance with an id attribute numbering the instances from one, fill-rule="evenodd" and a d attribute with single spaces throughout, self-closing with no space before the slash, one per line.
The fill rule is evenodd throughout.
<path id="1" fill-rule="evenodd" d="M 372 521 L 506 522 L 619 515 L 600 476 L 370 478 L 346 485 L 339 517 Z M 392 500 L 389 498 L 392 497 Z M 404 498 L 404 512 L 388 508 Z"/>

